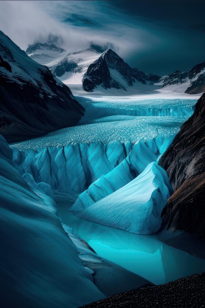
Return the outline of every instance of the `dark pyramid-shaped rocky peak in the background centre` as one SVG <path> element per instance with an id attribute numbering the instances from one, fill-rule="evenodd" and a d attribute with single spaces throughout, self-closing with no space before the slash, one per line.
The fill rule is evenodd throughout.
<path id="1" fill-rule="evenodd" d="M 112 76 L 112 71 L 117 71 L 120 78 L 122 78 L 128 86 L 133 86 L 137 81 L 146 84 L 149 82 L 158 82 L 160 77 L 156 75 L 146 75 L 144 72 L 139 71 L 137 68 L 131 68 L 125 63 L 112 49 L 106 50 L 96 61 L 91 63 L 88 67 L 86 74 L 83 77 L 83 88 L 85 91 L 90 92 L 101 85 L 105 89 L 126 88 Z"/>

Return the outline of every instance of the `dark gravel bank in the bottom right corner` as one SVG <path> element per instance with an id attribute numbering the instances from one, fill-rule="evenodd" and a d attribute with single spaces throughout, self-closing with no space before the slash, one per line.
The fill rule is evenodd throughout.
<path id="1" fill-rule="evenodd" d="M 205 273 L 147 286 L 108 297 L 84 308 L 202 308 L 205 307 Z"/>

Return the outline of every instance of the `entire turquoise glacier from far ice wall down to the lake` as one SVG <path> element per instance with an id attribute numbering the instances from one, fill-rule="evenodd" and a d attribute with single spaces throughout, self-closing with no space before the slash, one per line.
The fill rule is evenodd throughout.
<path id="1" fill-rule="evenodd" d="M 21 166 L 23 176 L 36 183 L 42 192 L 50 196 L 54 193 L 55 200 L 71 200 L 74 205 L 70 210 L 75 215 L 129 232 L 150 234 L 159 229 L 162 209 L 172 194 L 157 161 L 172 142 L 180 123 L 193 113 L 194 102 L 185 99 L 134 102 L 119 98 L 115 102 L 107 99 L 94 103 L 83 98 L 80 103 L 86 114 L 82 123 L 11 144 L 13 160 Z M 142 106 L 145 112 L 136 117 Z M 155 116 L 159 110 L 166 116 Z M 174 112 L 170 114 L 171 111 Z M 149 193 L 144 191 L 144 200 L 140 183 L 150 188 Z M 128 187 L 130 193 L 126 196 Z M 125 204 L 130 213 L 140 213 L 139 208 L 147 211 L 132 219 L 131 214 L 123 213 Z M 109 209 L 121 215 L 112 214 L 111 220 Z"/>

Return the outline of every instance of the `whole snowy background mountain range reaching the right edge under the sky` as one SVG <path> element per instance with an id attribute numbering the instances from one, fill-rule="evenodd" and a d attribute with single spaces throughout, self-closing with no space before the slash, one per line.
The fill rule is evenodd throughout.
<path id="1" fill-rule="evenodd" d="M 26 53 L 33 60 L 48 66 L 63 83 L 79 85 L 86 92 L 93 92 L 100 86 L 105 90 L 114 88 L 127 92 L 135 89 L 139 93 L 142 85 L 145 85 L 143 91 L 146 88 L 148 91 L 170 88 L 175 92 L 188 94 L 205 91 L 205 62 L 185 72 L 177 70 L 165 76 L 158 76 L 130 67 L 111 48 L 103 51 L 98 45 L 67 53 L 65 49 L 51 42 L 35 43 L 29 45 Z"/>

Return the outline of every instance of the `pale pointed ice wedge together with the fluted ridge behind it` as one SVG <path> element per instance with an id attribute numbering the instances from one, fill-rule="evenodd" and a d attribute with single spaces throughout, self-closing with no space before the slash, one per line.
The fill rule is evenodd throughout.
<path id="1" fill-rule="evenodd" d="M 135 144 L 115 169 L 79 195 L 70 211 L 132 233 L 156 232 L 161 226 L 161 212 L 173 193 L 157 159 L 171 141 L 172 138 L 163 143 L 158 137 L 146 144 Z"/>

